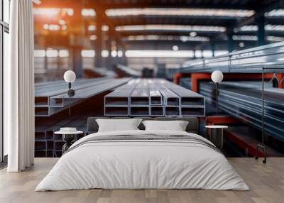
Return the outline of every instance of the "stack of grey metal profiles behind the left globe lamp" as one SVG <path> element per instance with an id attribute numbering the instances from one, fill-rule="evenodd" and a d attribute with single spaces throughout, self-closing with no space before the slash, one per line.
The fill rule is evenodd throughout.
<path id="1" fill-rule="evenodd" d="M 102 92 L 119 87 L 130 78 L 112 79 L 102 77 L 96 79 L 77 79 L 72 84 L 75 96 L 71 97 L 71 105 L 75 105 Z M 45 82 L 35 84 L 35 116 L 52 116 L 67 108 L 69 104 L 66 82 Z"/>

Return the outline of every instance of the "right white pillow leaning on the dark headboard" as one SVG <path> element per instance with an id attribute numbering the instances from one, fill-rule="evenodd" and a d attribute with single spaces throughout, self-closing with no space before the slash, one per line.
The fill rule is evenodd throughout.
<path id="1" fill-rule="evenodd" d="M 143 121 L 146 131 L 185 131 L 188 121 Z"/>

